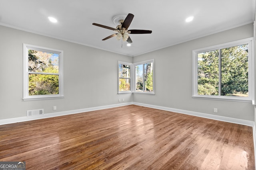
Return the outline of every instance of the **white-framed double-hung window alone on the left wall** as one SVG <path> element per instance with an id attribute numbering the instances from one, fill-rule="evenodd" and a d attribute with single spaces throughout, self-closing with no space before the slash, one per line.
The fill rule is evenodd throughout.
<path id="1" fill-rule="evenodd" d="M 63 51 L 23 45 L 23 100 L 63 98 Z"/>

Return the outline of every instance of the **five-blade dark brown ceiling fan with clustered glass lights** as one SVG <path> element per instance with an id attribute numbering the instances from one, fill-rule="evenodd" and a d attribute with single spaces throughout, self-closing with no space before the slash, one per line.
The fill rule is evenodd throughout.
<path id="1" fill-rule="evenodd" d="M 117 33 L 114 33 L 114 34 L 112 34 L 112 35 L 110 35 L 110 36 L 108 36 L 108 37 L 106 37 L 102 40 L 106 40 L 106 39 L 109 39 L 109 38 L 112 38 L 112 37 L 116 36 L 116 39 L 118 39 L 118 40 L 120 40 L 122 38 L 124 41 L 127 41 L 128 43 L 132 43 L 132 39 L 130 38 L 128 33 L 129 34 L 150 34 L 150 33 L 152 33 L 151 30 L 143 30 L 143 29 L 130 29 L 130 30 L 128 30 L 128 27 L 130 26 L 133 17 L 134 17 L 133 14 L 128 14 L 125 19 L 119 18 L 118 19 L 119 25 L 117 25 L 116 28 L 108 27 L 108 26 L 101 25 L 101 24 L 98 24 L 98 23 L 92 23 L 92 25 L 96 25 L 98 27 L 102 27 L 102 28 L 117 31 Z M 118 18 L 118 16 L 117 16 L 117 18 Z M 115 18 L 115 19 L 117 19 L 117 18 Z M 113 18 L 113 20 L 114 20 L 114 18 Z"/>

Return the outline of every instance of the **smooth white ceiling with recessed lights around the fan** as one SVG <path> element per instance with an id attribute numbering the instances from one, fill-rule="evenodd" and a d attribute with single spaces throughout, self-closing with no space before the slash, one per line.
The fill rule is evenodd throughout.
<path id="1" fill-rule="evenodd" d="M 148 29 L 152 34 L 130 34 L 130 47 L 115 37 L 102 41 L 116 32 L 92 23 L 115 28 L 112 18 L 128 13 L 134 14 L 129 29 Z M 58 22 L 51 23 L 48 16 Z M 186 23 L 188 16 L 194 20 Z M 255 0 L 0 0 L 0 25 L 128 56 L 254 20 Z"/>

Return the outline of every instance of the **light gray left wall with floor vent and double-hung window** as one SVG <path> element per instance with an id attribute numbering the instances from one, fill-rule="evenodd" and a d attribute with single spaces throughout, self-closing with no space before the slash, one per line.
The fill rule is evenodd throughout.
<path id="1" fill-rule="evenodd" d="M 23 101 L 23 43 L 64 50 L 64 99 Z M 132 57 L 0 26 L 0 119 L 120 104 L 118 60 Z M 132 102 L 132 94 L 123 95 Z M 57 110 L 53 111 L 53 106 Z"/>

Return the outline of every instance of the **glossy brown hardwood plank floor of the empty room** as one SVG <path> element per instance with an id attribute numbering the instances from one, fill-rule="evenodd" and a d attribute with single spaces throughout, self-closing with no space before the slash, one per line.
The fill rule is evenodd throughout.
<path id="1" fill-rule="evenodd" d="M 142 106 L 0 126 L 0 161 L 27 170 L 254 170 L 252 127 Z"/>

